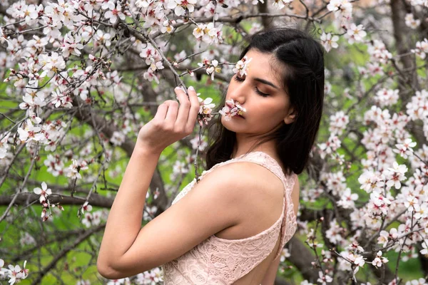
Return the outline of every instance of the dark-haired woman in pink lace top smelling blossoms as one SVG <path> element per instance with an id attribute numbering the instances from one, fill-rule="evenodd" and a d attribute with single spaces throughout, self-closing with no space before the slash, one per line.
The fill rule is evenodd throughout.
<path id="1" fill-rule="evenodd" d="M 165 284 L 273 284 L 280 252 L 295 232 L 300 174 L 322 114 L 322 48 L 302 31 L 250 38 L 225 100 L 246 112 L 219 120 L 208 171 L 141 228 L 149 182 L 162 150 L 190 134 L 199 103 L 175 88 L 141 128 L 111 208 L 98 255 L 108 279 L 163 265 Z M 239 162 L 239 163 L 236 163 Z"/>

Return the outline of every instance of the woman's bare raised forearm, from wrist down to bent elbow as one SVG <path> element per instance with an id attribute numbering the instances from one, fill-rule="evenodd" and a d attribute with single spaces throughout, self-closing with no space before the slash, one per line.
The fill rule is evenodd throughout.
<path id="1" fill-rule="evenodd" d="M 98 262 L 110 264 L 132 246 L 141 229 L 146 194 L 159 156 L 137 143 L 108 214 Z"/>

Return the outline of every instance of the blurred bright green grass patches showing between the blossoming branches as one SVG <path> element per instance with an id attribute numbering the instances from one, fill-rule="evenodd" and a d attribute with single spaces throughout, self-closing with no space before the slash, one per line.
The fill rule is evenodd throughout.
<path id="1" fill-rule="evenodd" d="M 249 26 L 250 23 L 246 24 L 246 26 Z M 225 31 L 225 34 L 233 33 L 233 31 Z M 238 36 L 235 36 L 238 37 Z M 232 37 L 233 38 L 233 37 Z M 235 40 L 239 40 L 239 38 L 233 38 Z M 191 43 L 178 41 L 177 47 L 178 51 L 181 49 L 188 49 L 188 46 Z M 342 45 L 346 46 L 346 45 Z M 338 56 L 339 55 L 339 56 Z M 357 75 L 356 66 L 364 66 L 365 63 L 368 61 L 368 56 L 365 51 L 365 48 L 362 46 L 347 46 L 346 48 L 341 48 L 340 51 L 332 51 L 331 53 L 326 53 L 325 55 L 325 63 L 327 69 L 334 72 L 337 69 L 344 69 L 344 68 L 351 68 L 354 75 Z M 195 63 L 193 63 L 195 65 Z M 209 81 L 207 81 L 207 76 L 203 76 L 201 81 L 192 81 L 191 78 L 185 78 L 185 83 L 187 86 L 194 86 L 195 89 L 201 93 L 201 97 L 211 97 L 214 99 L 214 102 L 219 102 L 221 97 L 221 92 L 217 85 L 210 84 Z M 133 80 L 133 75 L 131 73 L 125 73 L 123 74 L 123 81 L 124 82 L 131 82 Z M 365 81 L 365 88 L 370 88 L 374 83 L 376 83 L 379 80 L 379 78 L 369 78 L 367 81 Z M 351 90 L 353 88 L 356 88 L 356 86 L 353 86 L 352 83 L 349 85 L 347 81 L 344 81 L 340 76 L 335 76 L 332 74 L 330 83 L 332 83 L 332 93 L 335 95 L 333 97 L 326 96 L 325 101 L 325 115 L 322 120 L 322 126 L 320 129 L 320 133 L 318 136 L 318 141 L 322 142 L 327 140 L 329 136 L 328 131 L 328 123 L 329 123 L 329 115 L 332 113 L 335 113 L 337 111 L 331 103 L 331 100 L 337 100 L 338 105 L 343 106 L 343 110 L 347 110 L 347 108 L 350 108 L 353 104 L 355 104 L 355 98 L 349 99 L 343 97 L 341 94 L 343 93 L 343 90 L 345 88 L 350 88 Z M 3 94 L 2 97 L 7 97 L 8 94 L 6 92 L 6 87 L 10 86 L 9 83 L 3 83 L 0 82 L 0 93 Z M 362 101 L 362 104 L 365 102 Z M 7 111 L 18 108 L 19 100 L 2 100 L 2 103 L 0 105 L 0 112 L 6 113 Z M 367 104 L 370 105 L 370 104 Z M 360 111 L 360 109 L 357 109 Z M 141 113 L 143 118 L 148 118 L 148 112 L 143 110 L 139 111 Z M 362 115 L 357 114 L 353 110 L 350 111 L 350 116 L 355 115 Z M 54 118 L 54 117 L 53 117 Z M 76 122 L 77 124 L 78 122 Z M 8 129 L 10 128 L 11 123 L 6 120 L 1 120 L 1 129 Z M 71 132 L 73 132 L 75 135 L 83 134 L 89 127 L 83 126 L 82 128 L 73 128 Z M 354 153 L 355 157 L 358 157 L 361 159 L 362 157 L 365 157 L 365 150 L 362 147 L 357 147 L 355 145 L 355 142 L 353 140 L 350 140 L 349 138 L 345 138 L 342 141 L 342 144 L 346 146 L 348 150 L 352 150 L 352 153 Z M 100 151 L 100 150 L 98 150 Z M 121 150 L 117 150 L 121 151 Z M 349 177 L 347 178 L 347 185 L 354 191 L 356 191 L 360 195 L 360 200 L 357 201 L 358 204 L 364 204 L 367 199 L 368 195 L 364 191 L 358 191 L 360 188 L 360 184 L 357 182 L 357 178 L 361 174 L 361 165 L 359 161 L 352 161 L 352 157 L 349 155 L 347 151 L 344 150 L 344 147 L 342 147 L 339 150 L 340 154 L 345 155 L 345 160 L 352 162 L 352 167 L 350 167 L 349 171 Z M 114 169 L 116 165 L 121 165 L 124 169 L 124 166 L 128 162 L 128 157 L 124 153 L 121 153 L 121 160 L 118 160 L 117 162 L 111 163 L 110 169 Z M 163 175 L 163 180 L 165 183 L 168 184 L 174 184 L 173 181 L 170 181 L 170 174 L 172 172 L 172 168 L 170 165 L 172 165 L 172 162 L 174 162 L 177 159 L 177 154 L 175 150 L 173 150 L 172 147 L 168 147 L 164 152 L 161 160 L 167 160 L 169 163 L 165 163 L 165 165 L 160 165 L 160 170 Z M 95 164 L 96 165 L 96 164 Z M 24 168 L 28 169 L 29 165 L 25 165 Z M 93 166 L 93 171 L 97 172 L 96 166 Z M 36 180 L 36 181 L 45 181 L 48 185 L 49 184 L 56 184 L 56 185 L 67 185 L 68 180 L 65 177 L 53 177 L 51 174 L 46 172 L 46 167 L 39 163 L 36 163 L 36 170 L 31 173 L 30 179 Z M 191 171 L 192 168 L 190 168 L 190 172 L 188 175 L 185 176 L 183 182 L 183 185 L 186 185 L 188 182 L 190 182 L 193 177 L 193 171 Z M 84 175 L 84 172 L 83 172 Z M 307 180 L 307 175 L 302 174 L 300 175 L 300 185 L 301 187 L 305 187 L 305 181 Z M 108 182 L 110 185 L 118 187 L 121 183 L 121 175 L 118 175 L 118 177 L 108 177 Z M 0 194 L 3 193 L 4 190 L 9 189 L 11 185 L 14 185 L 15 183 L 9 183 L 6 181 L 6 183 L 3 185 L 2 189 L 0 190 Z M 81 185 L 83 186 L 83 185 Z M 97 185 L 97 192 L 101 195 L 111 195 L 109 191 L 101 190 L 104 187 L 104 185 Z M 29 187 L 28 191 L 32 192 L 34 188 Z M 148 199 L 148 204 L 151 203 L 151 199 Z M 305 207 L 310 207 L 311 209 L 322 209 L 327 204 L 327 199 L 320 199 L 320 201 L 317 201 L 315 204 L 305 204 Z M 0 207 L 0 212 L 4 212 L 6 207 Z M 22 237 L 22 232 L 17 230 L 16 225 L 19 224 L 21 228 L 25 228 L 28 232 L 34 232 L 41 227 L 38 223 L 27 223 L 29 217 L 39 217 L 41 212 L 41 207 L 39 207 L 39 204 L 36 204 L 34 207 L 25 207 L 16 209 L 19 211 L 19 217 L 14 220 L 13 223 L 9 224 L 7 222 L 2 222 L 0 224 L 0 233 L 1 233 L 1 244 L 0 247 L 3 249 L 8 249 L 10 256 L 16 255 L 16 253 L 24 253 L 26 251 L 29 251 L 29 254 L 38 254 L 41 258 L 41 264 L 43 266 L 48 266 L 49 262 L 51 262 L 52 257 L 57 254 L 58 252 L 63 249 L 64 246 L 66 246 L 67 242 L 53 242 L 48 247 L 44 247 L 43 249 L 39 249 L 37 247 L 33 246 L 25 246 L 21 247 L 19 245 L 19 239 Z M 93 208 L 93 211 L 96 211 L 96 207 Z M 52 232 L 56 232 L 56 236 L 51 237 L 45 237 L 46 241 L 54 240 L 58 237 L 61 237 L 61 232 L 65 232 L 69 229 L 79 229 L 83 228 L 83 224 L 81 224 L 81 219 L 77 216 L 78 212 L 78 206 L 66 206 L 65 211 L 62 212 L 61 215 L 56 214 L 52 222 L 45 222 L 44 226 L 46 229 L 51 229 Z M 398 224 L 392 224 L 391 227 L 397 227 Z M 311 227 L 311 225 L 309 225 Z M 34 229 L 34 230 L 32 230 Z M 91 284 L 101 284 L 104 282 L 104 280 L 97 274 L 96 266 L 94 266 L 94 262 L 96 261 L 96 253 L 98 251 L 99 243 L 101 242 L 101 234 L 98 233 L 93 235 L 90 239 L 87 239 L 86 242 L 81 243 L 76 250 L 73 250 L 66 254 L 65 259 L 61 259 L 61 261 L 58 262 L 56 265 L 56 268 L 58 269 L 72 269 L 72 270 L 59 270 L 61 272 L 61 280 L 63 281 L 63 284 L 76 284 L 76 281 L 78 279 L 88 279 L 91 281 Z M 67 237 L 63 237 L 66 239 Z M 298 236 L 299 239 L 302 240 L 302 242 L 305 241 L 305 236 Z M 322 240 L 322 237 L 319 237 L 319 240 Z M 70 240 L 69 242 L 73 242 Z M 92 254 L 88 254 L 88 252 L 92 252 Z M 320 253 L 320 252 L 319 252 Z M 3 257 L 0 257 L 5 260 L 6 263 L 13 263 L 15 264 L 17 261 L 9 260 L 9 254 L 5 254 Z M 386 254 L 386 257 L 389 259 L 389 263 L 387 266 L 394 271 L 395 265 L 397 263 L 397 253 L 395 252 L 388 252 Z M 21 264 L 21 261 L 20 265 Z M 288 261 L 285 263 L 286 265 L 289 265 Z M 367 264 L 367 268 L 371 266 L 370 264 Z M 404 281 L 417 279 L 422 276 L 421 271 L 421 265 L 419 264 L 419 261 L 417 259 L 411 259 L 407 262 L 400 262 L 399 276 L 404 279 Z M 34 274 L 35 272 L 38 272 L 41 270 L 40 268 L 36 268 L 31 263 L 28 263 L 26 266 L 29 269 L 30 274 Z M 367 276 L 368 270 L 366 269 L 360 269 L 359 273 L 357 274 L 357 277 L 365 280 L 365 276 Z M 73 272 L 71 274 L 71 272 Z M 284 276 L 287 280 L 291 282 L 295 282 L 295 284 L 300 284 L 300 281 L 302 281 L 301 274 L 294 269 L 286 269 L 285 273 L 281 274 Z M 31 275 L 30 275 L 31 276 Z M 47 274 L 42 284 L 58 284 L 58 276 L 52 275 L 52 273 Z M 29 279 L 24 280 L 21 282 L 21 284 L 30 284 L 31 282 Z M 374 284 L 374 280 L 370 279 L 367 281 L 371 281 L 372 284 Z"/>

